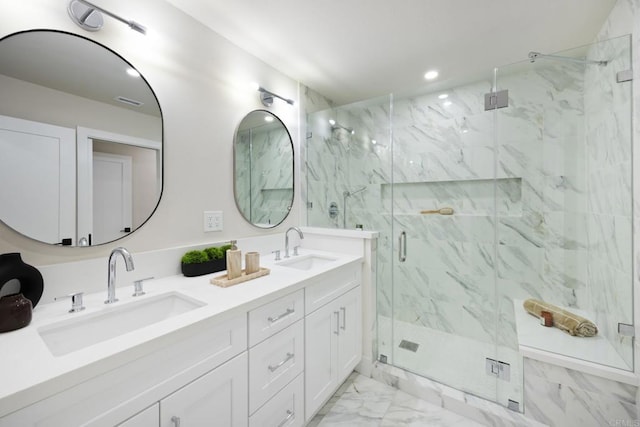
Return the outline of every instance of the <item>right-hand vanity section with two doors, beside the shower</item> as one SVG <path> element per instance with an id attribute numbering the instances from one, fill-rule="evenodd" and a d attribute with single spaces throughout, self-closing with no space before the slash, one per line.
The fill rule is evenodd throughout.
<path id="1" fill-rule="evenodd" d="M 337 390 L 362 357 L 359 266 L 350 267 L 344 273 L 324 278 L 306 289 L 306 307 L 319 306 L 315 311 L 307 311 L 305 317 L 307 420 Z"/>

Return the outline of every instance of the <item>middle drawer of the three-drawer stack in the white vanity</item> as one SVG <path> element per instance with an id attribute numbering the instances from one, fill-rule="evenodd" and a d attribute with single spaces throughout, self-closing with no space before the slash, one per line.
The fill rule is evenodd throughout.
<path id="1" fill-rule="evenodd" d="M 304 325 L 300 320 L 249 350 L 249 413 L 302 372 Z"/>

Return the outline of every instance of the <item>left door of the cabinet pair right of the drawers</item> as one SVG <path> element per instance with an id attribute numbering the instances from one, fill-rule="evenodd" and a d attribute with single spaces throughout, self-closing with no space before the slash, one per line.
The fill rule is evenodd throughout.
<path id="1" fill-rule="evenodd" d="M 315 414 L 338 387 L 338 316 L 335 304 L 314 311 L 305 319 L 305 415 Z"/>

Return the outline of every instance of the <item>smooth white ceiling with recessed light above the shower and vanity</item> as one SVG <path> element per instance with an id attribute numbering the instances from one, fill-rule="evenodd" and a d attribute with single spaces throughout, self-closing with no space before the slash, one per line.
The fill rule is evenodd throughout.
<path id="1" fill-rule="evenodd" d="M 616 0 L 167 0 L 337 104 L 593 42 Z M 437 69 L 435 82 L 423 79 Z"/>

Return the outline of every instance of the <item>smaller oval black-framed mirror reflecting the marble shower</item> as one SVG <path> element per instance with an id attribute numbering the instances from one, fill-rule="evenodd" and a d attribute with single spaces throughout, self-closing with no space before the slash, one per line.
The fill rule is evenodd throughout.
<path id="1" fill-rule="evenodd" d="M 234 139 L 234 192 L 238 210 L 251 224 L 271 228 L 293 204 L 293 141 L 268 111 L 247 114 Z"/>

